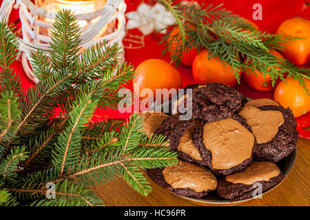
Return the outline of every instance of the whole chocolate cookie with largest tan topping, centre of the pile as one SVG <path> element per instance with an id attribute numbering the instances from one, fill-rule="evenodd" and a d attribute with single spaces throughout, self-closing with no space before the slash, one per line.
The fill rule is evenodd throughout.
<path id="1" fill-rule="evenodd" d="M 217 122 L 200 122 L 192 137 L 203 161 L 216 174 L 244 170 L 253 160 L 255 137 L 240 115 Z"/>

